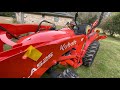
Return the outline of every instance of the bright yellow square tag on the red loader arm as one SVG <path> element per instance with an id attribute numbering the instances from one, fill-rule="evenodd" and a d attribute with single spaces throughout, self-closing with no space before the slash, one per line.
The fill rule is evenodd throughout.
<path id="1" fill-rule="evenodd" d="M 32 45 L 29 46 L 25 51 L 27 51 L 25 54 L 24 54 L 24 58 L 27 58 L 29 57 L 30 59 L 34 60 L 34 61 L 37 61 L 41 56 L 42 56 L 42 53 L 37 50 L 35 47 L 33 47 Z"/>

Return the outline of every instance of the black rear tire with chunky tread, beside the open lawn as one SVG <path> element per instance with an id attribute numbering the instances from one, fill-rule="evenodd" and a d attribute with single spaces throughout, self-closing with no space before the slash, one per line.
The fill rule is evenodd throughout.
<path id="1" fill-rule="evenodd" d="M 89 47 L 83 57 L 83 65 L 90 67 L 94 61 L 94 58 L 99 50 L 100 43 L 99 41 L 94 41 Z"/>

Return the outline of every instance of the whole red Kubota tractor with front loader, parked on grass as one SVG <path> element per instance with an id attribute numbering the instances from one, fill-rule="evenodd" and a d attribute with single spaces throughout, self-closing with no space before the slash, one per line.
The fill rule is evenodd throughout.
<path id="1" fill-rule="evenodd" d="M 75 15 L 75 23 L 78 13 Z M 62 28 L 43 20 L 34 24 L 0 24 L 0 78 L 40 78 L 48 73 L 53 78 L 78 78 L 70 68 L 55 73 L 60 64 L 78 68 L 91 66 L 99 49 L 99 30 L 95 30 L 103 17 L 97 19 L 86 32 L 84 26 L 77 29 Z M 42 25 L 43 22 L 50 25 Z M 52 25 L 51 25 L 52 24 Z M 84 28 L 81 28 L 84 27 Z M 27 33 L 27 36 L 21 34 Z M 16 41 L 13 41 L 13 39 Z M 4 51 L 4 44 L 12 48 Z"/>

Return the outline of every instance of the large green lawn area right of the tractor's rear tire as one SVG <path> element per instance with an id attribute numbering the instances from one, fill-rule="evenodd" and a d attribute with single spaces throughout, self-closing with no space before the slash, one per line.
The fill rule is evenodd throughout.
<path id="1" fill-rule="evenodd" d="M 100 44 L 93 65 L 75 69 L 80 78 L 120 78 L 120 39 L 108 37 Z"/>

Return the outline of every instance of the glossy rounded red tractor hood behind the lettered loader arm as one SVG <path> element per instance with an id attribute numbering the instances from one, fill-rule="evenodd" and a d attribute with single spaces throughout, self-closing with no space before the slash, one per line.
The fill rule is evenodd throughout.
<path id="1" fill-rule="evenodd" d="M 65 37 L 74 36 L 74 31 L 64 28 L 59 31 L 41 31 L 26 37 L 22 37 L 17 43 L 24 45 L 35 44 L 35 43 L 47 43 L 55 41 Z"/>

